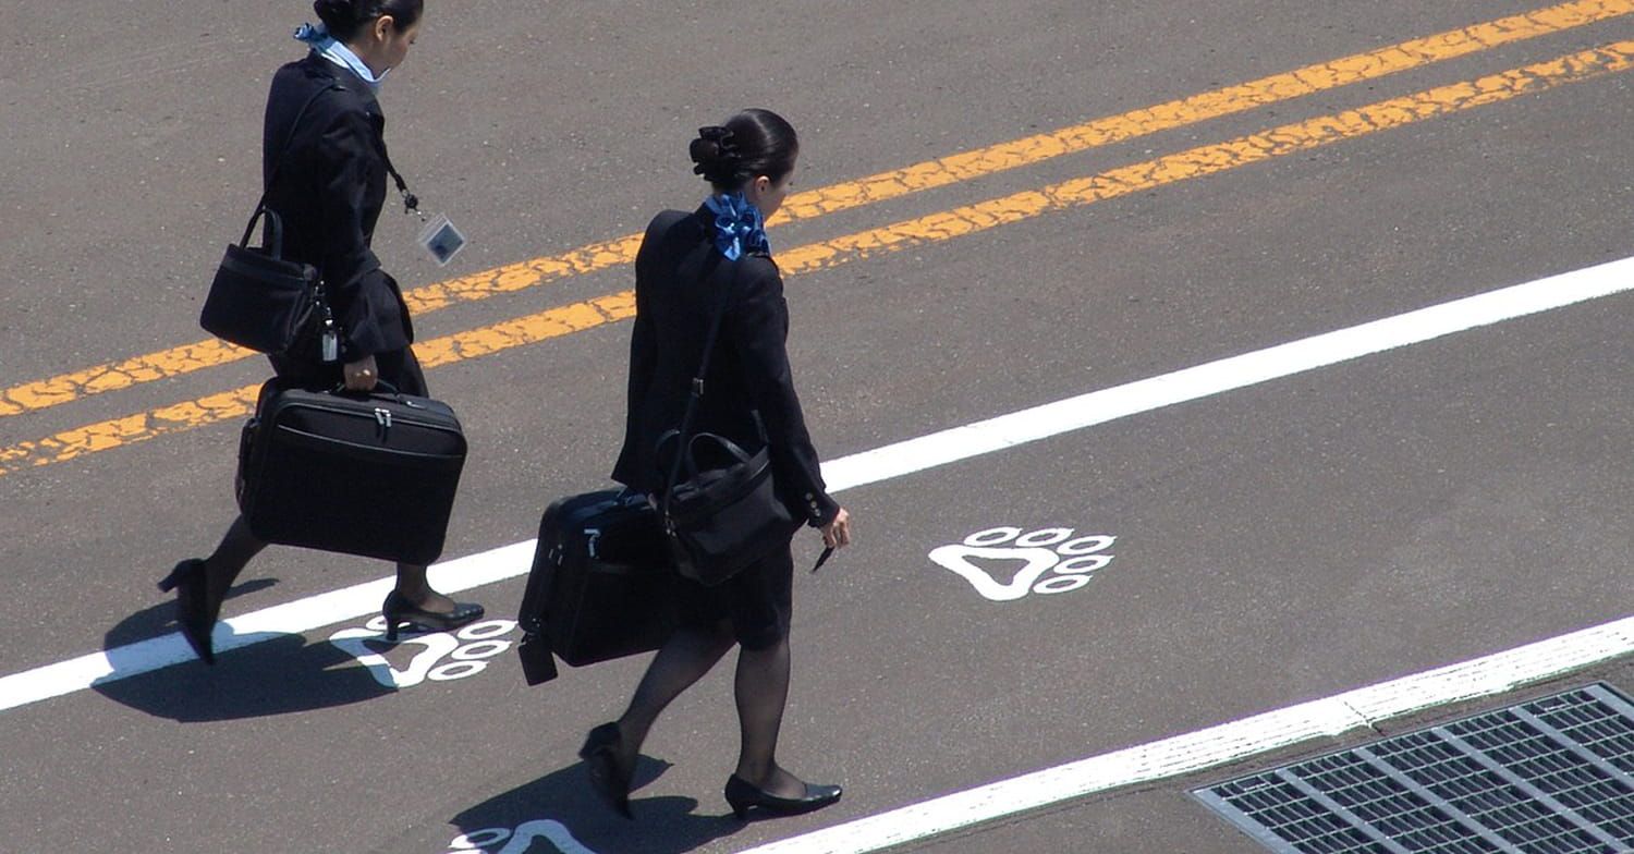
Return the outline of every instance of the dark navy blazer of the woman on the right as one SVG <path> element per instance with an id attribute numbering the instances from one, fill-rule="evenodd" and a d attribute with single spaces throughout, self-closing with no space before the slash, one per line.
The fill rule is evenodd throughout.
<path id="1" fill-rule="evenodd" d="M 668 475 L 659 470 L 655 446 L 681 425 L 709 318 L 725 299 L 694 429 L 725 436 L 750 452 L 770 447 L 783 503 L 796 519 L 828 524 L 840 505 L 825 491 L 794 394 L 783 276 L 765 255 L 722 258 L 709 232 L 712 220 L 703 207 L 659 214 L 636 255 L 629 411 L 613 478 L 652 493 Z"/>

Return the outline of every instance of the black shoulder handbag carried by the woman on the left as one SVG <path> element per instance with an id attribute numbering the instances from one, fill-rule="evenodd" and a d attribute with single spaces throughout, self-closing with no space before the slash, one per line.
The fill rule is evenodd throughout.
<path id="1" fill-rule="evenodd" d="M 278 178 L 301 118 L 330 88 L 337 87 L 312 93 L 289 122 L 268 188 Z M 257 222 L 265 222 L 261 245 L 252 247 Z M 284 224 L 276 211 L 266 207 L 266 193 L 250 214 L 243 237 L 222 255 L 199 312 L 199 325 L 217 338 L 261 353 L 288 353 L 302 338 L 324 338 L 319 358 L 335 361 L 338 356 L 333 315 L 324 300 L 319 273 L 312 265 L 284 258 Z"/>

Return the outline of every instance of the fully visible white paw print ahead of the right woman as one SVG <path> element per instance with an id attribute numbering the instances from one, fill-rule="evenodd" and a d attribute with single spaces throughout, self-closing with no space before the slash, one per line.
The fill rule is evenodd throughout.
<path id="1" fill-rule="evenodd" d="M 1118 537 L 1093 534 L 1074 536 L 1070 527 L 1042 527 L 1021 532 L 1020 527 L 989 527 L 964 537 L 961 545 L 941 545 L 930 558 L 941 568 L 958 573 L 984 598 L 995 603 L 1013 603 L 1028 593 L 1067 593 L 1090 583 L 1096 570 L 1113 562 L 1108 549 Z M 989 570 L 974 560 L 1025 560 L 1008 583 L 995 580 Z M 1051 578 L 1044 578 L 1051 575 Z"/>

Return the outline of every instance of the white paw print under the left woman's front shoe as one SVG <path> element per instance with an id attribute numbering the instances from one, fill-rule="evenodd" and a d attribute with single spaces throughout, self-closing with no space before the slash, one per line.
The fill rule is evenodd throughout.
<path id="1" fill-rule="evenodd" d="M 394 645 L 382 640 L 386 617 L 374 617 L 368 625 L 328 635 L 328 642 L 356 658 L 382 686 L 413 687 L 426 679 L 448 683 L 482 673 L 489 668 L 489 658 L 511 647 L 511 642 L 502 637 L 515 630 L 515 620 L 485 620 L 474 622 L 458 634 L 397 635 Z M 408 660 L 408 666 L 399 669 L 386 653 L 404 647 L 420 647 L 420 652 Z"/>

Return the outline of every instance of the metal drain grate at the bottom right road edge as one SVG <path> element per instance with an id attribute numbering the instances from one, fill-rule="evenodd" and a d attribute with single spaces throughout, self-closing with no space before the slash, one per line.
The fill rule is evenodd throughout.
<path id="1" fill-rule="evenodd" d="M 1193 795 L 1283 854 L 1634 852 L 1634 702 L 1593 684 Z"/>

